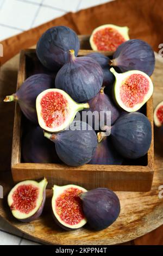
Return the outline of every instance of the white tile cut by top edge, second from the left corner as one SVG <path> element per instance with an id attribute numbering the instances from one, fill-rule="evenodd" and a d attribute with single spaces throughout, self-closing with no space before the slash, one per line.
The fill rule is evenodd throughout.
<path id="1" fill-rule="evenodd" d="M 88 0 L 89 2 L 89 0 Z M 96 2 L 96 1 L 95 1 Z M 66 11 L 76 11 L 80 0 L 44 0 L 43 5 Z"/>

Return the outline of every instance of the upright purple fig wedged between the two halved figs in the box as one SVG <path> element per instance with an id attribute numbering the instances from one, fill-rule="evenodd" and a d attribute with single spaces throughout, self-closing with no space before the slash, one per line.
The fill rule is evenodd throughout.
<path id="1" fill-rule="evenodd" d="M 111 112 L 111 125 L 115 123 L 115 121 L 120 117 L 120 111 L 118 108 L 114 105 L 114 103 L 111 101 L 110 97 L 104 93 L 104 88 L 101 88 L 100 92 L 93 97 L 93 99 L 88 101 L 89 103 L 89 110 L 91 112 L 97 111 L 98 116 L 103 111 L 104 112 L 104 125 L 106 125 L 106 120 L 108 118 L 107 113 Z M 92 127 L 94 130 L 100 130 L 96 129 L 96 126 L 100 126 L 100 118 L 95 115 L 95 118 L 92 120 Z M 102 127 L 100 127 L 102 129 Z"/>

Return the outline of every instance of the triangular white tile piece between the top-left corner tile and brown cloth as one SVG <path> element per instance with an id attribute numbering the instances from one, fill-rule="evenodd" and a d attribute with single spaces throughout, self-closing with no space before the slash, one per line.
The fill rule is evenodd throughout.
<path id="1" fill-rule="evenodd" d="M 54 10 L 48 7 L 41 7 L 32 27 L 41 25 L 42 23 L 51 21 L 65 14 L 65 11 Z M 42 19 L 43 17 L 43 19 Z"/>

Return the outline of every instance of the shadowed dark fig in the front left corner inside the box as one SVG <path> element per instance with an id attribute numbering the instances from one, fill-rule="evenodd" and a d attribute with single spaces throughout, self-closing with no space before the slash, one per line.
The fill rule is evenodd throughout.
<path id="1" fill-rule="evenodd" d="M 33 127 L 22 140 L 22 159 L 25 163 L 58 163 L 59 157 L 51 141 L 43 136 L 40 126 Z"/>

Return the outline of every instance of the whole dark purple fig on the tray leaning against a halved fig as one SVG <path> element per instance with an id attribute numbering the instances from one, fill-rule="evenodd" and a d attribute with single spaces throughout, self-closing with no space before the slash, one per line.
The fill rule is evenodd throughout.
<path id="1" fill-rule="evenodd" d="M 96 188 L 80 194 L 83 211 L 95 230 L 108 228 L 120 214 L 121 205 L 117 195 L 108 188 Z"/>

